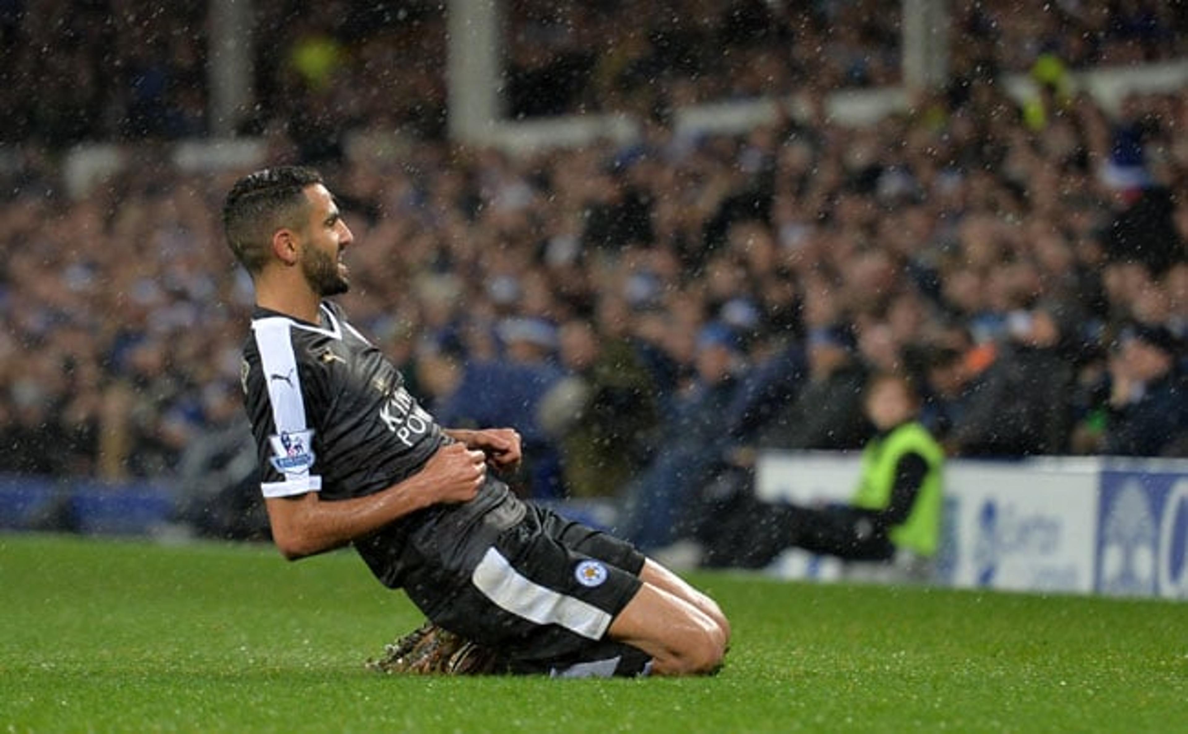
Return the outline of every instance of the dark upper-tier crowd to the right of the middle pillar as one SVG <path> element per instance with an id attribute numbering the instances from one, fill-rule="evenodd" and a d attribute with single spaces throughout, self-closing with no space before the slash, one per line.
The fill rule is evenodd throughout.
<path id="1" fill-rule="evenodd" d="M 959 0 L 955 77 L 1028 71 L 1054 53 L 1073 68 L 1182 56 L 1180 4 Z M 901 83 L 902 8 L 878 0 L 520 0 L 508 2 L 512 115 L 643 112 Z M 624 23 L 625 19 L 630 19 Z"/>

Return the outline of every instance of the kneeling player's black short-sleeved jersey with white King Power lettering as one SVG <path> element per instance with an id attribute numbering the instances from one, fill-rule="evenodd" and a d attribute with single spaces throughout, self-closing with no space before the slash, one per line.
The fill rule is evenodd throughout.
<path id="1" fill-rule="evenodd" d="M 451 441 L 405 390 L 400 371 L 329 302 L 317 324 L 257 309 L 241 377 L 266 498 L 366 496 L 416 474 Z M 441 536 L 481 526 L 508 498 L 491 477 L 469 502 L 412 513 L 354 545 L 381 582 L 397 587 L 424 544 L 457 543 Z M 419 549 L 406 549 L 412 536 Z"/>

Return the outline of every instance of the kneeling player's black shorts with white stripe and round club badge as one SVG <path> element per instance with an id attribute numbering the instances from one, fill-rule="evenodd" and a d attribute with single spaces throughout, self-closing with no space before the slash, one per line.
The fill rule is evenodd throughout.
<path id="1" fill-rule="evenodd" d="M 405 583 L 409 597 L 434 622 L 500 650 L 516 672 L 646 672 L 647 656 L 606 639 L 643 583 L 644 556 L 614 536 L 513 501 L 524 508 L 518 521 L 493 540 L 469 533 L 460 540 L 469 548 L 453 548 L 441 563 L 426 559 Z"/>

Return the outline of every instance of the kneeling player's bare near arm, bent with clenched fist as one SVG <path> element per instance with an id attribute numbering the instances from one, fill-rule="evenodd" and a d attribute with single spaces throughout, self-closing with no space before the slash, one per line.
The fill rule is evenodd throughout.
<path id="1" fill-rule="evenodd" d="M 438 502 L 474 499 L 487 456 L 457 443 L 443 445 L 421 472 L 367 496 L 323 501 L 316 492 L 266 498 L 272 539 L 289 561 L 341 548 L 406 514 Z"/>

